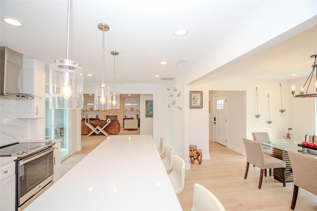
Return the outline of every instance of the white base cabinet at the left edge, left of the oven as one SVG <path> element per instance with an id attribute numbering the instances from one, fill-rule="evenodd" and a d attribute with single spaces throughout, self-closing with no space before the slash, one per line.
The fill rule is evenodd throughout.
<path id="1" fill-rule="evenodd" d="M 0 211 L 15 211 L 15 163 L 0 166 Z"/>

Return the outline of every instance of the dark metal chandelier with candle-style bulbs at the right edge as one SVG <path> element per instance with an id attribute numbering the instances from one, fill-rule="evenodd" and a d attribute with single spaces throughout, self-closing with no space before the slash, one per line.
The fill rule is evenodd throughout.
<path id="1" fill-rule="evenodd" d="M 304 97 L 317 97 L 317 54 L 312 55 L 311 58 L 315 58 L 315 62 L 312 65 L 313 70 L 312 70 L 311 74 L 308 76 L 305 84 L 301 87 L 301 90 L 300 90 L 298 95 L 295 95 L 295 85 L 291 86 L 293 97 L 303 97 L 303 98 Z M 309 86 L 310 86 L 310 84 L 312 82 L 312 79 L 313 79 L 315 71 L 316 71 L 315 93 L 308 94 L 307 92 L 308 92 Z M 308 82 L 308 85 L 307 85 L 306 92 L 304 94 L 305 85 L 307 84 L 307 82 Z"/>

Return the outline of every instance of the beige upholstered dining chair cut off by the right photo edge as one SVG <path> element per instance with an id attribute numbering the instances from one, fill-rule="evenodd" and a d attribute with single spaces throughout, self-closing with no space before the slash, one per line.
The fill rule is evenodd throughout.
<path id="1" fill-rule="evenodd" d="M 293 169 L 294 191 L 291 209 L 294 210 L 299 188 L 317 195 L 317 158 L 294 151 L 287 153 Z"/>

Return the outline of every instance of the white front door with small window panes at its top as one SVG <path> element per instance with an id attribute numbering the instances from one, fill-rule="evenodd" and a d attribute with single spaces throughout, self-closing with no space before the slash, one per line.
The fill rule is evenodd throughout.
<path id="1" fill-rule="evenodd" d="M 227 110 L 226 110 L 226 95 L 214 97 L 214 141 L 227 146 Z"/>

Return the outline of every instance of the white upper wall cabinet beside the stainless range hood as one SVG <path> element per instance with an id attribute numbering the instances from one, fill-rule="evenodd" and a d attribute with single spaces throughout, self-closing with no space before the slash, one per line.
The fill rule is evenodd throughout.
<path id="1" fill-rule="evenodd" d="M 23 59 L 24 94 L 36 97 L 16 102 L 17 119 L 33 119 L 45 117 L 45 65 L 35 59 Z"/>

